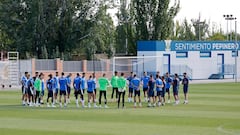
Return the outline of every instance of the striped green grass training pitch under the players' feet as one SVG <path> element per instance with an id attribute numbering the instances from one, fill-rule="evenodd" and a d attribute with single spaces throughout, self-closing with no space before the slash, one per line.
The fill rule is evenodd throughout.
<path id="1" fill-rule="evenodd" d="M 126 103 L 126 109 L 117 109 L 117 103 L 109 103 L 109 109 L 82 109 L 75 107 L 73 95 L 67 108 L 37 108 L 20 105 L 20 90 L 4 89 L 0 135 L 240 134 L 240 83 L 191 84 L 187 105 L 182 104 L 182 88 L 179 94 L 181 104 L 155 108 Z"/>

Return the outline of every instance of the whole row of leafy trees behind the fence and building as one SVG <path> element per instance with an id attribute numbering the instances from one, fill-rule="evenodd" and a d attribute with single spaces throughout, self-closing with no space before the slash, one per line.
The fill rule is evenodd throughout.
<path id="1" fill-rule="evenodd" d="M 119 2 L 119 3 L 118 3 Z M 225 40 L 221 29 L 174 21 L 180 1 L 0 0 L 0 50 L 20 58 L 136 55 L 138 40 Z M 109 9 L 116 9 L 117 25 Z M 200 38 L 200 39 L 199 39 Z"/>

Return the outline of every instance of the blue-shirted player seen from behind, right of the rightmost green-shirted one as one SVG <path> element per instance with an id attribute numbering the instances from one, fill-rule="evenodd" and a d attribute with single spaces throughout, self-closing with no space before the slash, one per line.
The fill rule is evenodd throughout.
<path id="1" fill-rule="evenodd" d="M 134 78 L 131 81 L 131 85 L 132 85 L 133 91 L 134 91 L 134 107 L 137 107 L 136 96 L 138 96 L 139 107 L 142 107 L 141 95 L 140 95 L 140 84 L 141 84 L 141 81 L 140 81 L 139 78 L 137 78 L 136 74 L 134 74 L 133 77 Z"/>

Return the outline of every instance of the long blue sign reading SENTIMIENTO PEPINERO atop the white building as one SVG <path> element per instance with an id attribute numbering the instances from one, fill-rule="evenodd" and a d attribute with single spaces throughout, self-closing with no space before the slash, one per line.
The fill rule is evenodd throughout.
<path id="1" fill-rule="evenodd" d="M 234 51 L 240 50 L 234 41 L 138 41 L 138 51 Z"/>

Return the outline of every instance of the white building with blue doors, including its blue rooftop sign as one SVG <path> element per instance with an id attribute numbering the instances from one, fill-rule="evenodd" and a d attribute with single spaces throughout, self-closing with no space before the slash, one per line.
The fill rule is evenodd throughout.
<path id="1" fill-rule="evenodd" d="M 145 71 L 187 72 L 192 79 L 207 79 L 213 74 L 233 78 L 237 67 L 240 78 L 240 58 L 235 57 L 238 56 L 238 44 L 233 41 L 138 41 L 137 54 L 146 58 L 159 56 L 156 63 L 145 64 Z"/>

